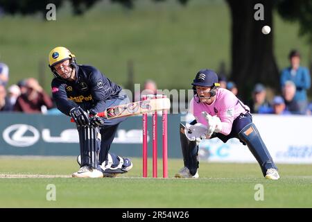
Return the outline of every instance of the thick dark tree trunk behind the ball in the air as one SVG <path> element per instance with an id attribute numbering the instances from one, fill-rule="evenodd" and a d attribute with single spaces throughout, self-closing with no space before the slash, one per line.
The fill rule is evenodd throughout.
<path id="1" fill-rule="evenodd" d="M 239 86 L 244 99 L 250 96 L 255 83 L 279 88 L 279 70 L 273 52 L 274 27 L 271 0 L 226 0 L 232 15 L 232 69 L 231 78 Z M 254 19 L 257 3 L 263 5 L 263 20 Z M 261 33 L 270 26 L 268 35 Z"/>

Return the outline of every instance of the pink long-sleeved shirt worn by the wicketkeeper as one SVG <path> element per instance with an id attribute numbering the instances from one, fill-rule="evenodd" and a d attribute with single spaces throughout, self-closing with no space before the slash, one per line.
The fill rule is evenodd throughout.
<path id="1" fill-rule="evenodd" d="M 216 90 L 216 99 L 213 103 L 197 103 L 194 98 L 191 99 L 189 112 L 193 114 L 198 123 L 207 126 L 207 120 L 202 117 L 202 112 L 207 112 L 211 116 L 216 115 L 222 122 L 222 130 L 220 133 L 229 135 L 232 130 L 232 124 L 236 117 L 241 113 L 250 111 L 250 108 L 243 104 L 232 92 L 227 89 L 218 88 Z"/>

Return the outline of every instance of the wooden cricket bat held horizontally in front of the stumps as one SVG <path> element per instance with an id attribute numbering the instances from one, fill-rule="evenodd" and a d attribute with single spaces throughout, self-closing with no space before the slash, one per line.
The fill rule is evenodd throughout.
<path id="1" fill-rule="evenodd" d="M 106 119 L 129 117 L 148 112 L 168 110 L 170 107 L 171 103 L 168 98 L 148 99 L 107 108 L 104 112 L 98 112 L 98 117 L 105 117 Z M 73 121 L 71 119 L 71 122 Z"/>

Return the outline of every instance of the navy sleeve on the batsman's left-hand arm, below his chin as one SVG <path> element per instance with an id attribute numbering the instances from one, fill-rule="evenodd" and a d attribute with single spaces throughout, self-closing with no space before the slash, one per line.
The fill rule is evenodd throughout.
<path id="1" fill-rule="evenodd" d="M 51 87 L 52 87 L 52 96 L 55 101 L 56 107 L 58 108 L 58 110 L 60 110 L 60 112 L 69 116 L 69 111 L 72 108 L 78 107 L 78 105 L 67 98 L 64 83 L 62 84 L 59 82 L 57 83 L 52 82 Z"/>

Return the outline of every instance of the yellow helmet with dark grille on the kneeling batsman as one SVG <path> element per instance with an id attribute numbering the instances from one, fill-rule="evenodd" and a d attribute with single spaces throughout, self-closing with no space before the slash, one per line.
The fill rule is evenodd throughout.
<path id="1" fill-rule="evenodd" d="M 49 67 L 55 77 L 60 77 L 60 75 L 53 66 L 60 62 L 63 62 L 64 60 L 69 60 L 69 65 L 71 65 L 72 68 L 75 68 L 77 65 L 76 56 L 73 55 L 73 53 L 71 53 L 71 51 L 69 51 L 67 48 L 58 46 L 50 51 Z"/>

